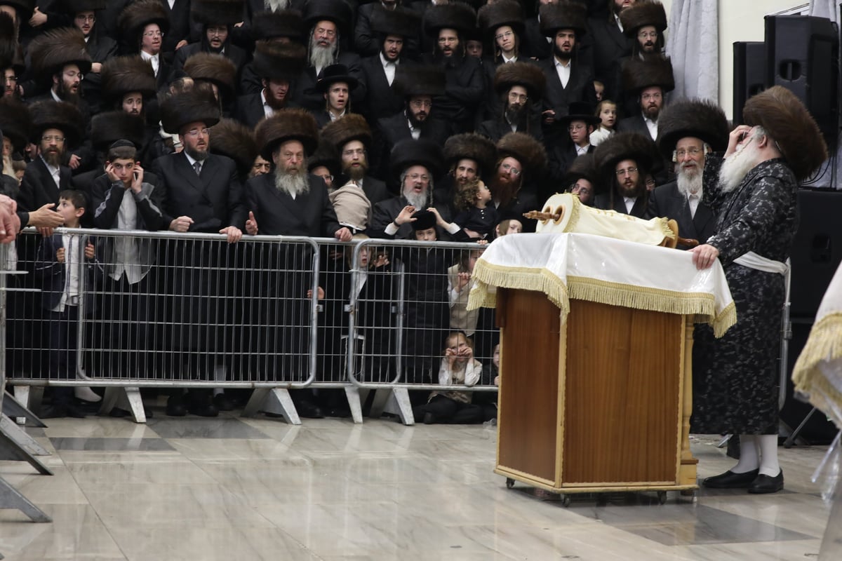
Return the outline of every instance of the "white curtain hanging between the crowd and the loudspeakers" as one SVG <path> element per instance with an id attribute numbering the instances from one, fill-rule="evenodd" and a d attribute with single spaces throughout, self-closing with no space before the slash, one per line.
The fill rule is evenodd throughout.
<path id="1" fill-rule="evenodd" d="M 717 0 L 673 0 L 669 8 L 667 55 L 673 61 L 673 98 L 719 103 Z"/>

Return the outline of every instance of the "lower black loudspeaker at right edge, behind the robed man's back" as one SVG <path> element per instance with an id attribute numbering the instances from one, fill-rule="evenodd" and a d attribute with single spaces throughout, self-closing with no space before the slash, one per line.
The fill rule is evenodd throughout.
<path id="1" fill-rule="evenodd" d="M 790 316 L 812 322 L 842 262 L 842 192 L 800 189 L 798 214 L 790 257 Z"/>

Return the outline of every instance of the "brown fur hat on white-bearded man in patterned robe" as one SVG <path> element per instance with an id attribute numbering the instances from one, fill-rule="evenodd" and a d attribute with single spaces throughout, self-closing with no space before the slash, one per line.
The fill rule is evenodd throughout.
<path id="1" fill-rule="evenodd" d="M 745 103 L 743 121 L 761 126 L 781 148 L 798 181 L 807 179 L 828 159 L 828 146 L 816 119 L 786 87 L 773 86 Z"/>

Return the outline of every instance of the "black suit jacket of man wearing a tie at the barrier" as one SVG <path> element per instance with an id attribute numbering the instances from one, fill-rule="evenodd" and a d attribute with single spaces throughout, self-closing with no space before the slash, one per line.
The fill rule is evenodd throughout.
<path id="1" fill-rule="evenodd" d="M 167 227 L 179 216 L 193 219 L 191 232 L 216 233 L 226 226 L 242 228 L 248 213 L 242 203 L 237 164 L 231 158 L 211 154 L 197 176 L 184 152 L 162 156 L 152 162 L 162 188 L 163 220 Z"/>

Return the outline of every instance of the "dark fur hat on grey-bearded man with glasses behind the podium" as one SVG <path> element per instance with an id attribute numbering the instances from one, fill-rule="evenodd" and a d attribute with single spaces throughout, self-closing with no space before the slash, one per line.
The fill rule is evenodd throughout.
<path id="1" fill-rule="evenodd" d="M 658 115 L 658 149 L 669 161 L 675 145 L 686 136 L 695 136 L 724 152 L 728 147 L 728 121 L 716 103 L 702 99 L 679 99 L 669 103 Z"/>

